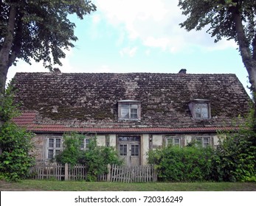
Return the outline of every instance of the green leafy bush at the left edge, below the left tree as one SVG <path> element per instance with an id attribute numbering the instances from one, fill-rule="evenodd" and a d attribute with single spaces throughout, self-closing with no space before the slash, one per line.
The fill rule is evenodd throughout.
<path id="1" fill-rule="evenodd" d="M 28 177 L 30 167 L 34 163 L 34 157 L 30 154 L 33 134 L 10 121 L 17 114 L 18 111 L 13 104 L 13 93 L 11 88 L 7 88 L 1 107 L 1 115 L 5 122 L 0 130 L 0 172 L 1 177 L 9 181 Z"/>

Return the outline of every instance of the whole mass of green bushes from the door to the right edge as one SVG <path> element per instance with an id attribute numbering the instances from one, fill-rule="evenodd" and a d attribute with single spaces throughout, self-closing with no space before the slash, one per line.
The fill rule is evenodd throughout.
<path id="1" fill-rule="evenodd" d="M 256 182 L 255 118 L 250 114 L 238 131 L 218 132 L 216 149 L 190 142 L 149 152 L 148 162 L 156 165 L 159 180 Z"/>

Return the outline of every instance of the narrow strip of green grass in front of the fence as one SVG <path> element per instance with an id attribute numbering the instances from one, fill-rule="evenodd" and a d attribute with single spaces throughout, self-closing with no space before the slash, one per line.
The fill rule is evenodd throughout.
<path id="1" fill-rule="evenodd" d="M 0 191 L 256 191 L 249 182 L 78 182 L 50 180 L 0 181 Z"/>

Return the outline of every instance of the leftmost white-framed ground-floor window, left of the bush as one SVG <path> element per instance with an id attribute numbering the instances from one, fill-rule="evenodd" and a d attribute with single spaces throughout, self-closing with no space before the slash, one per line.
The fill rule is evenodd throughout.
<path id="1" fill-rule="evenodd" d="M 47 159 L 52 159 L 55 155 L 59 154 L 61 151 L 61 138 L 48 138 L 47 139 L 47 149 L 46 157 Z"/>

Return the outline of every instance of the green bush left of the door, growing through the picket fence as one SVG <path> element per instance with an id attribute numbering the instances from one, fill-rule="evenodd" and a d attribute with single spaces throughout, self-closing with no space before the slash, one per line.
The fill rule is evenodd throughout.
<path id="1" fill-rule="evenodd" d="M 97 138 L 91 138 L 88 148 L 81 150 L 84 135 L 72 133 L 64 138 L 64 149 L 56 156 L 58 163 L 77 163 L 86 166 L 87 181 L 96 181 L 98 175 L 106 173 L 108 164 L 121 165 L 122 160 L 113 147 L 97 146 Z"/>

